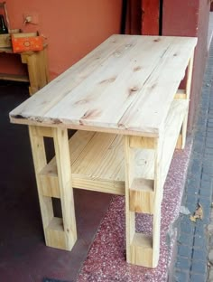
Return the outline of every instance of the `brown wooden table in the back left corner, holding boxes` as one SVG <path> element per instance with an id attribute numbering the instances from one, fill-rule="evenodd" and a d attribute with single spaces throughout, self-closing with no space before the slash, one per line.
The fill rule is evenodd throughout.
<path id="1" fill-rule="evenodd" d="M 0 48 L 0 53 L 14 54 L 11 48 Z M 42 51 L 28 51 L 18 53 L 23 63 L 27 65 L 28 76 L 0 73 L 0 80 L 16 80 L 30 82 L 30 95 L 42 89 L 49 82 L 47 63 L 47 45 Z"/>

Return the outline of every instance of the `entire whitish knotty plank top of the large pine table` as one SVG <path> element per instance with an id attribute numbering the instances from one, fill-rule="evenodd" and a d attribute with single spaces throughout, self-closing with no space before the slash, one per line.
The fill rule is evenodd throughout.
<path id="1" fill-rule="evenodd" d="M 11 121 L 158 136 L 196 42 L 114 35 L 16 108 Z"/>

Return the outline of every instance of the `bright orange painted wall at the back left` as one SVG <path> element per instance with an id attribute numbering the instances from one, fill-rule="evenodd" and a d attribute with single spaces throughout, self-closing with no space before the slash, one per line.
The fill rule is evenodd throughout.
<path id="1" fill-rule="evenodd" d="M 120 33 L 122 0 L 7 0 L 11 28 L 39 31 L 47 37 L 51 79 L 103 42 Z M 23 14 L 38 24 L 23 25 Z M 0 54 L 0 72 L 22 74 L 18 55 Z"/>

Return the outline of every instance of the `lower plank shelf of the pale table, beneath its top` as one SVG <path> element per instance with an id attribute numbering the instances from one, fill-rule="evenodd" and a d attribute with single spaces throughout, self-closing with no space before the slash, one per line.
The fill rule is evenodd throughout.
<path id="1" fill-rule="evenodd" d="M 165 122 L 161 161 L 162 185 L 171 164 L 187 107 L 188 101 L 174 100 Z M 124 136 L 120 135 L 77 131 L 69 140 L 73 187 L 125 195 L 125 146 L 123 142 Z M 139 148 L 135 149 L 134 155 L 134 178 L 144 179 L 144 184 L 143 191 L 133 187 L 133 193 L 136 194 L 135 198 L 139 193 L 141 198 L 144 197 L 147 200 L 144 201 L 148 202 L 144 211 L 152 213 L 154 184 L 153 180 L 149 179 L 154 179 L 154 150 Z M 42 169 L 40 178 L 43 195 L 60 198 L 55 157 Z M 137 186 L 138 183 L 135 184 Z M 147 190 L 146 186 L 150 186 L 151 190 Z"/>

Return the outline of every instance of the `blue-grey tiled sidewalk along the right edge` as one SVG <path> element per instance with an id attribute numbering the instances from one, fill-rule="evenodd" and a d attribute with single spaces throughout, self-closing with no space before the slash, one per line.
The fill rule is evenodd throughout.
<path id="1" fill-rule="evenodd" d="M 208 249 L 213 249 L 213 223 L 211 216 L 213 183 L 213 43 L 208 53 L 197 121 L 194 127 L 193 146 L 182 206 L 193 213 L 199 204 L 203 219 L 190 221 L 190 215 L 180 216 L 178 255 L 175 282 L 213 281 L 213 254 L 208 261 Z M 212 256 L 211 256 L 212 255 Z M 212 270 L 211 270 L 212 268 Z M 208 272 L 210 276 L 208 278 Z"/>

